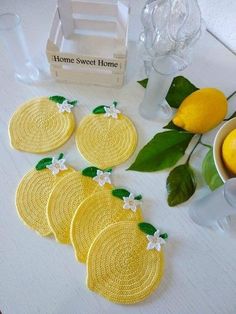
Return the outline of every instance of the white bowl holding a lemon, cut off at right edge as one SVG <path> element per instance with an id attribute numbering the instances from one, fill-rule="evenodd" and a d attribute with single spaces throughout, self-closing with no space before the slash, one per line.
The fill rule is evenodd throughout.
<path id="1" fill-rule="evenodd" d="M 230 175 L 230 173 L 226 169 L 222 159 L 222 144 L 226 136 L 234 129 L 236 129 L 236 118 L 233 118 L 222 125 L 222 127 L 217 132 L 213 143 L 213 156 L 216 169 L 223 182 L 225 182 L 229 178 L 232 178 L 232 175 Z"/>

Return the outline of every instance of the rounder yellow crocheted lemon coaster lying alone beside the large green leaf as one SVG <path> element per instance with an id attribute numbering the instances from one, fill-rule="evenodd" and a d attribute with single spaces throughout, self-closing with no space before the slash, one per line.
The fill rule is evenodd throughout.
<path id="1" fill-rule="evenodd" d="M 99 106 L 93 113 L 79 124 L 76 132 L 78 150 L 86 160 L 100 168 L 123 163 L 137 145 L 133 123 L 115 105 Z"/>

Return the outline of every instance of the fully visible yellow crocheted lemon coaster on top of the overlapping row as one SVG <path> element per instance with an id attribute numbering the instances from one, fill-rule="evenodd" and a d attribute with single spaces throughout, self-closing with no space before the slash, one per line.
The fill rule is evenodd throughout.
<path id="1" fill-rule="evenodd" d="M 132 221 L 106 227 L 88 253 L 88 288 L 115 303 L 131 304 L 147 298 L 163 274 L 162 236 L 167 234 L 159 235 L 159 230 L 145 235 Z"/>

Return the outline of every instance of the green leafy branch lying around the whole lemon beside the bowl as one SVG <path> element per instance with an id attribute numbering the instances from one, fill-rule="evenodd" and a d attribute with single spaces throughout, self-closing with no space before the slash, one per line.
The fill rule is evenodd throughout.
<path id="1" fill-rule="evenodd" d="M 148 79 L 139 81 L 138 83 L 146 88 Z M 189 80 L 183 76 L 177 76 L 171 83 L 166 100 L 171 107 L 178 108 L 182 101 L 196 90 L 198 90 L 198 87 L 194 86 Z M 236 91 L 227 100 L 235 94 Z M 236 117 L 236 112 L 225 119 L 225 121 L 234 117 Z M 176 126 L 173 121 L 170 121 L 163 128 L 168 129 L 168 131 L 157 133 L 141 149 L 136 160 L 128 170 L 152 172 L 173 167 L 185 155 L 185 151 L 193 137 L 198 136 L 198 140 L 185 163 L 173 168 L 167 177 L 166 190 L 169 206 L 176 206 L 187 201 L 196 190 L 197 182 L 190 161 L 199 144 L 208 148 L 208 152 L 202 162 L 202 175 L 207 185 L 211 190 L 214 190 L 223 184 L 214 163 L 212 146 L 202 141 L 202 134 L 189 133 Z M 144 228 L 151 230 L 148 229 L 150 226 L 145 225 Z"/>

